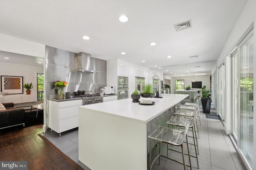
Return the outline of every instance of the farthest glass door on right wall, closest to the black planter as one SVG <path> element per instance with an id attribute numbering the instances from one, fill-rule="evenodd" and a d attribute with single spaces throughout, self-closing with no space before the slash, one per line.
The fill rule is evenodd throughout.
<path id="1" fill-rule="evenodd" d="M 224 63 L 219 67 L 218 70 L 218 114 L 220 115 L 222 121 L 224 121 Z"/>

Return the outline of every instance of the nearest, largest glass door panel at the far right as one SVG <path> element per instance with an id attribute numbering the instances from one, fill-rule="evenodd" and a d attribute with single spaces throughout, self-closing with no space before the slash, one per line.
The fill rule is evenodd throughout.
<path id="1" fill-rule="evenodd" d="M 253 163 L 253 35 L 248 34 L 239 46 L 240 53 L 240 148 Z"/>

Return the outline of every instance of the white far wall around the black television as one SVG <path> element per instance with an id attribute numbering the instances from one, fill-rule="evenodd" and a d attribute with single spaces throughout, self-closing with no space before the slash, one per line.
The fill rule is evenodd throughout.
<path id="1" fill-rule="evenodd" d="M 174 93 L 175 89 L 175 80 L 184 79 L 185 87 L 190 85 L 192 87 L 193 76 L 186 76 L 186 77 L 171 77 L 171 93 Z M 202 87 L 205 85 L 206 90 L 209 90 L 209 75 L 195 75 L 195 81 L 202 81 Z M 193 88 L 194 89 L 194 88 Z"/>

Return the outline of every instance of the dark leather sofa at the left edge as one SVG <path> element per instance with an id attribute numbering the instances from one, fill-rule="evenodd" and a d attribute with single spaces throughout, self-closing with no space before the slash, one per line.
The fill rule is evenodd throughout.
<path id="1" fill-rule="evenodd" d="M 2 103 L 6 108 L 0 111 L 0 129 L 23 125 L 25 127 L 25 109 L 15 108 L 14 103 Z"/>

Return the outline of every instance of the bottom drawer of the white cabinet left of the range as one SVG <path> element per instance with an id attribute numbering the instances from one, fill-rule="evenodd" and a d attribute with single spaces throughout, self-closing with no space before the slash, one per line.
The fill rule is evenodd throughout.
<path id="1" fill-rule="evenodd" d="M 59 133 L 78 127 L 78 116 L 60 120 Z"/>

